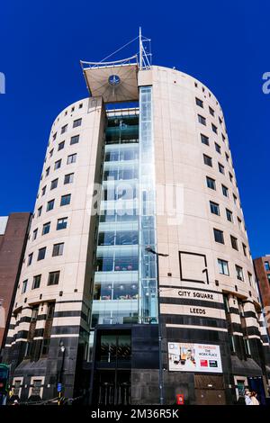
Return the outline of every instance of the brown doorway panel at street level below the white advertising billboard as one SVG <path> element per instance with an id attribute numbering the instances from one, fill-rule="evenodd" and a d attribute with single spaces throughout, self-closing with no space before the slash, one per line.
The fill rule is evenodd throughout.
<path id="1" fill-rule="evenodd" d="M 222 375 L 195 374 L 196 405 L 226 405 Z"/>

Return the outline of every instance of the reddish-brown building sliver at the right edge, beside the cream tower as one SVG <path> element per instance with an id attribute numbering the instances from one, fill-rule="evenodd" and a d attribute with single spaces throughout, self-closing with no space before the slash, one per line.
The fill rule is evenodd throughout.
<path id="1" fill-rule="evenodd" d="M 270 336 L 270 255 L 255 258 L 253 262 L 266 316 L 266 327 Z"/>

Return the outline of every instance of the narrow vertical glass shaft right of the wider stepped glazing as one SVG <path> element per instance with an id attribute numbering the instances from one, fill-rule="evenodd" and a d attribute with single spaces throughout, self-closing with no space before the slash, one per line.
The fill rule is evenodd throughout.
<path id="1" fill-rule="evenodd" d="M 139 323 L 157 323 L 155 151 L 152 87 L 139 88 Z"/>

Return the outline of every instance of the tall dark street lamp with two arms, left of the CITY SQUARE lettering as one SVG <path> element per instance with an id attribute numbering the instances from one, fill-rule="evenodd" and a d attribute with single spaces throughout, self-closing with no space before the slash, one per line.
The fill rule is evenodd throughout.
<path id="1" fill-rule="evenodd" d="M 152 247 L 148 246 L 145 248 L 148 253 L 155 254 L 157 256 L 157 320 L 158 320 L 158 350 L 159 350 L 159 402 L 160 405 L 164 404 L 164 377 L 163 377 L 163 365 L 162 365 L 162 331 L 161 331 L 161 319 L 160 319 L 160 295 L 159 295 L 159 263 L 158 257 L 168 257 L 168 254 L 157 253 Z"/>

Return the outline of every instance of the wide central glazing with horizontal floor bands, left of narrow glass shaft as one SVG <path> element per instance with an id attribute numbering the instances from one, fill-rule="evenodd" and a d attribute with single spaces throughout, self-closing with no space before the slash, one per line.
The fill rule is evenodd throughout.
<path id="1" fill-rule="evenodd" d="M 108 118 L 92 328 L 138 322 L 139 116 Z"/>

